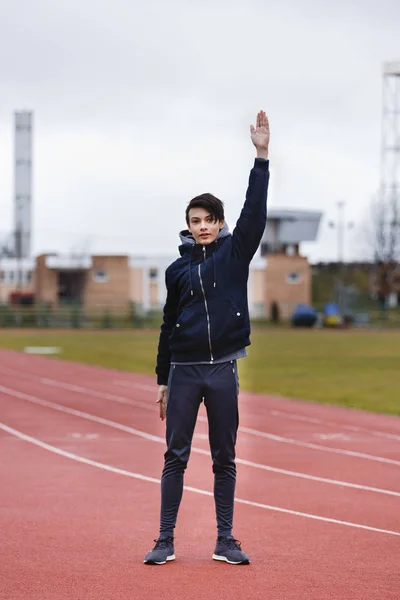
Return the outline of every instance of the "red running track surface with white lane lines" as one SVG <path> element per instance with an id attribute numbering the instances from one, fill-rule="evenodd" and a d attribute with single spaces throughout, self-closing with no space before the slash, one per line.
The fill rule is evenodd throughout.
<path id="1" fill-rule="evenodd" d="M 234 533 L 251 565 L 211 560 L 202 407 L 177 560 L 144 566 L 164 452 L 155 391 L 152 377 L 0 351 L 2 600 L 400 598 L 400 419 L 243 392 Z"/>

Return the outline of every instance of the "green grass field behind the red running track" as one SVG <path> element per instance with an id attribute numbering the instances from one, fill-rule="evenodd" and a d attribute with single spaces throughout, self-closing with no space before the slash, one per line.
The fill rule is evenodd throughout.
<path id="1" fill-rule="evenodd" d="M 0 347 L 154 375 L 158 331 L 0 330 Z M 254 330 L 242 389 L 400 415 L 400 332 Z"/>

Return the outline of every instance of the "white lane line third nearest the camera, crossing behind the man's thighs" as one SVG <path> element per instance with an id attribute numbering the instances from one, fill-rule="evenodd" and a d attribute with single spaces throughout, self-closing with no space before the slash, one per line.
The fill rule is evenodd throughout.
<path id="1" fill-rule="evenodd" d="M 0 372 L 5 372 L 5 371 L 6 371 L 6 369 L 0 368 Z M 9 371 L 11 371 L 11 369 Z M 137 406 L 140 408 L 144 408 L 145 410 L 154 410 L 152 404 L 147 404 L 146 402 L 138 402 L 137 400 L 129 400 L 128 398 L 125 398 L 124 396 L 119 396 L 119 395 L 117 396 L 116 394 L 108 394 L 105 392 L 100 392 L 99 390 L 93 390 L 91 388 L 87 388 L 85 386 L 65 383 L 63 381 L 59 381 L 56 379 L 50 379 L 48 377 L 27 375 L 26 373 L 24 375 L 21 375 L 21 373 L 19 373 L 18 371 L 15 371 L 14 373 L 20 379 L 24 379 L 24 378 L 32 379 L 34 381 L 38 381 L 39 383 L 43 383 L 44 385 L 48 385 L 51 387 L 57 387 L 57 388 L 60 388 L 63 390 L 69 390 L 72 392 L 77 392 L 80 394 L 84 394 L 86 396 L 93 396 L 95 398 L 102 398 L 104 400 L 110 400 L 111 402 L 119 402 L 121 404 Z M 14 373 L 11 373 L 11 374 L 14 375 Z M 198 420 L 207 423 L 207 417 L 199 416 Z M 300 446 L 302 448 L 310 448 L 312 450 L 319 450 L 321 452 L 329 452 L 331 454 L 339 454 L 339 455 L 343 455 L 343 456 L 353 456 L 355 458 L 361 458 L 361 459 L 365 459 L 365 460 L 371 460 L 371 461 L 376 461 L 376 462 L 380 462 L 380 463 L 386 463 L 386 464 L 390 464 L 390 465 L 400 466 L 400 461 L 394 460 L 391 458 L 374 456 L 372 454 L 356 452 L 353 450 L 344 450 L 342 448 L 330 448 L 329 446 L 321 446 L 319 444 L 313 444 L 311 442 L 303 442 L 301 440 L 296 440 L 293 438 L 287 438 L 287 437 L 275 435 L 272 433 L 259 431 L 258 429 L 252 429 L 250 427 L 240 426 L 239 431 L 241 431 L 243 433 L 247 433 L 249 435 L 254 435 L 256 437 L 269 439 L 271 441 L 279 442 L 279 443 L 283 443 L 283 444 L 293 444 L 295 446 Z"/>

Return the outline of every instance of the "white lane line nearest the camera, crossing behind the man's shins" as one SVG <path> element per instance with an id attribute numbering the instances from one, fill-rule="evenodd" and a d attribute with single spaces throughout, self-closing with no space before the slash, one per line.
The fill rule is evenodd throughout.
<path id="1" fill-rule="evenodd" d="M 63 456 L 65 458 L 69 458 L 70 460 L 75 460 L 77 462 L 89 465 L 91 467 L 96 467 L 98 469 L 103 469 L 104 471 L 109 471 L 111 473 L 116 473 L 118 475 L 124 475 L 125 477 L 132 477 L 134 479 L 140 479 L 141 481 L 147 481 L 149 483 L 157 483 L 160 484 L 161 480 L 156 479 L 155 477 L 148 477 L 147 475 L 142 475 L 141 473 L 133 473 L 132 471 L 126 471 L 125 469 L 119 469 L 117 467 L 113 467 L 111 465 L 107 465 L 105 463 L 100 463 L 94 460 L 90 460 L 89 458 L 84 458 L 83 456 L 79 456 L 78 454 L 73 454 L 72 452 L 66 452 L 61 448 L 56 446 L 51 446 L 50 444 L 46 444 L 37 438 L 33 438 L 17 429 L 13 429 L 4 423 L 0 423 L 0 429 L 13 435 L 15 437 L 24 440 L 25 442 L 29 442 L 34 444 L 35 446 L 39 446 L 43 450 L 47 450 L 48 452 L 53 452 L 54 454 L 58 454 L 59 456 Z M 213 492 L 208 490 L 203 490 L 201 488 L 195 488 L 192 486 L 184 486 L 184 489 L 188 492 L 193 492 L 195 494 L 201 494 L 202 496 L 214 497 Z M 294 515 L 297 517 L 304 517 L 306 519 L 313 519 L 316 521 L 323 521 L 325 523 L 334 523 L 335 525 L 344 525 L 346 527 L 354 527 L 356 529 L 364 529 L 366 531 L 373 531 L 375 533 L 386 533 L 388 535 L 397 535 L 400 536 L 400 532 L 391 531 L 388 529 L 378 529 L 377 527 L 370 527 L 369 525 L 361 525 L 359 523 L 353 523 L 351 521 L 340 521 L 338 519 L 331 519 L 329 517 L 321 517 L 320 515 L 314 515 L 312 513 L 303 513 L 296 510 L 290 510 L 287 508 L 282 508 L 280 506 L 271 506 L 269 504 L 262 504 L 261 502 L 252 502 L 251 500 L 244 500 L 242 498 L 235 498 L 235 502 L 238 504 L 246 504 L 247 506 L 253 506 L 255 508 L 262 508 L 264 510 L 271 510 L 275 512 L 285 513 L 288 515 Z"/>

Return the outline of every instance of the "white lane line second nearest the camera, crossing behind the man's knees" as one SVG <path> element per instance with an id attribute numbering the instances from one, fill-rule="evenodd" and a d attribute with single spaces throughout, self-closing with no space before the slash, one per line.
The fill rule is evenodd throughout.
<path id="1" fill-rule="evenodd" d="M 152 435 L 145 431 L 141 431 L 139 429 L 134 429 L 133 427 L 129 427 L 128 425 L 123 425 L 122 423 L 117 423 L 116 421 L 110 421 L 109 419 L 105 419 L 103 417 L 98 417 L 96 415 L 92 415 L 87 412 L 83 412 L 81 410 L 77 410 L 74 408 L 69 408 L 62 404 L 56 404 L 55 402 L 50 402 L 48 400 L 43 400 L 41 398 L 37 398 L 36 396 L 32 396 L 31 394 L 25 394 L 24 392 L 19 392 L 17 390 L 12 390 L 10 388 L 6 388 L 0 385 L 0 392 L 18 398 L 20 400 L 24 400 L 27 402 L 31 402 L 32 404 L 37 404 L 39 406 L 43 406 L 45 408 L 51 408 L 58 412 L 70 414 L 76 417 L 80 417 L 82 419 L 87 419 L 89 421 L 93 421 L 95 423 L 100 423 L 101 425 L 107 425 L 108 427 L 113 427 L 114 429 L 119 429 L 120 431 L 124 431 L 125 433 L 129 433 L 131 435 L 136 435 L 143 439 L 149 440 L 151 442 L 156 442 L 165 445 L 165 439 L 163 437 Z M 210 456 L 210 452 L 208 450 L 204 450 L 203 448 L 196 448 L 192 446 L 192 452 L 196 454 L 202 454 L 203 456 Z M 378 494 L 385 494 L 388 496 L 397 496 L 400 497 L 400 492 L 395 492 L 393 490 L 384 490 L 380 488 L 375 488 L 371 486 L 361 485 L 357 483 L 350 483 L 348 481 L 339 481 L 337 479 L 328 479 L 326 477 L 317 477 L 314 475 L 307 475 L 306 473 L 299 473 L 297 471 L 289 471 L 287 469 L 278 469 L 277 467 L 271 467 L 269 465 L 264 465 L 261 463 L 252 462 L 249 460 L 245 460 L 242 458 L 236 458 L 236 462 L 238 464 L 245 465 L 247 467 L 252 467 L 254 469 L 260 469 L 262 471 L 271 471 L 273 473 L 278 473 L 280 475 L 287 475 L 289 477 L 297 477 L 300 479 L 307 479 L 309 481 L 317 481 L 319 483 L 328 483 L 331 485 L 338 485 L 340 487 L 353 488 L 357 490 L 362 490 L 366 492 L 375 492 Z"/>

